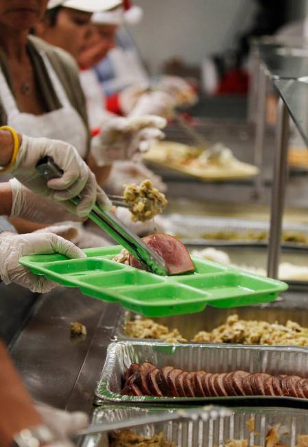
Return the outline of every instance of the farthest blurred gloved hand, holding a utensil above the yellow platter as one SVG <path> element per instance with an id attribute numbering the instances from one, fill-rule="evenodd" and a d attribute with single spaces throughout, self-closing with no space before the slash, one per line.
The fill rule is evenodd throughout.
<path id="1" fill-rule="evenodd" d="M 179 76 L 163 76 L 155 88 L 170 95 L 177 106 L 193 106 L 198 101 L 193 88 Z"/>

